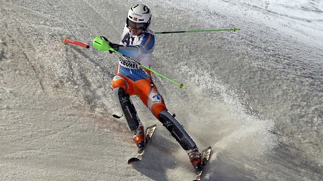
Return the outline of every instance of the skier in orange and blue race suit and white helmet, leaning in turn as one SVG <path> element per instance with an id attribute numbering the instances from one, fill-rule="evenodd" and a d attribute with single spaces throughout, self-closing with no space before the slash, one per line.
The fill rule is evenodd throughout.
<path id="1" fill-rule="evenodd" d="M 183 149 L 186 150 L 193 167 L 200 170 L 204 159 L 198 148 L 181 124 L 171 115 L 151 78 L 151 72 L 138 63 L 150 67 L 155 46 L 155 34 L 148 27 L 151 22 L 150 9 L 142 4 L 130 8 L 120 44 L 109 45 L 125 56 L 118 57 L 116 75 L 112 80 L 111 88 L 123 115 L 126 117 L 129 129 L 133 131 L 133 140 L 142 148 L 146 143 L 144 126 L 140 122 L 130 96 L 137 95 L 151 110 L 152 114 L 170 131 Z M 110 51 L 110 53 L 113 53 Z M 127 58 L 130 57 L 131 59 Z"/>

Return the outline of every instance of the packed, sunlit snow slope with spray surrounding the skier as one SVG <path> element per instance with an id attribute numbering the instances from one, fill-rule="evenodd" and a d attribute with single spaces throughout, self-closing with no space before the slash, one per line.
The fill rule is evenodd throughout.
<path id="1" fill-rule="evenodd" d="M 153 76 L 170 112 L 200 149 L 205 180 L 323 179 L 321 1 L 0 0 L 0 180 L 192 180 L 186 152 L 157 124 L 145 159 L 113 98 L 128 9 L 153 12 L 151 29 L 240 28 L 157 35 Z M 64 44 L 70 38 L 90 49 Z"/>

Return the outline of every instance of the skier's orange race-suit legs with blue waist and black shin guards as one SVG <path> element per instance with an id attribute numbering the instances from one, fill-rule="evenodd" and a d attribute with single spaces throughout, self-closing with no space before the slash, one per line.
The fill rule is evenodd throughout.
<path id="1" fill-rule="evenodd" d="M 152 114 L 171 132 L 181 147 L 187 152 L 197 149 L 196 144 L 182 125 L 170 114 L 146 69 L 129 69 L 118 66 L 111 88 L 117 103 L 126 117 L 129 129 L 135 131 L 142 123 L 139 120 L 130 96 L 138 96 Z"/>

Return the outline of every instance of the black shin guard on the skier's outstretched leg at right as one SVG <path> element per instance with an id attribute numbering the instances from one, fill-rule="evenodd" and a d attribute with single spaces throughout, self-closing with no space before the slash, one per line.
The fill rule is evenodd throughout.
<path id="1" fill-rule="evenodd" d="M 196 144 L 193 139 L 186 132 L 184 127 L 170 114 L 170 112 L 163 110 L 159 113 L 158 118 L 183 149 L 189 151 L 196 148 Z"/>

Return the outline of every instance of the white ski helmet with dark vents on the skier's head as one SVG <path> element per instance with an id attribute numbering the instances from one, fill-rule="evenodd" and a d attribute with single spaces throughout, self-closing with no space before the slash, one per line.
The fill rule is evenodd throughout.
<path id="1" fill-rule="evenodd" d="M 146 30 L 150 25 L 151 11 L 146 5 L 134 5 L 127 15 L 127 27 Z"/>

